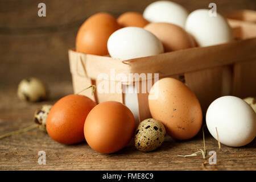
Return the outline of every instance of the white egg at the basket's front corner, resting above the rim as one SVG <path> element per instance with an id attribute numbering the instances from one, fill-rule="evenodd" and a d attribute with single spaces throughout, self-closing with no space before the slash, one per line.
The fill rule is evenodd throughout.
<path id="1" fill-rule="evenodd" d="M 111 57 L 122 60 L 163 53 L 163 44 L 151 32 L 139 27 L 125 27 L 115 31 L 108 40 Z"/>

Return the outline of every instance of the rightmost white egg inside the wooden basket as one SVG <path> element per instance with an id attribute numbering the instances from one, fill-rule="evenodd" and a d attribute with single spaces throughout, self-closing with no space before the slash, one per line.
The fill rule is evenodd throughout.
<path id="1" fill-rule="evenodd" d="M 226 19 L 218 13 L 216 16 L 210 16 L 209 11 L 200 9 L 189 14 L 185 30 L 193 35 L 201 47 L 232 41 L 233 31 Z"/>

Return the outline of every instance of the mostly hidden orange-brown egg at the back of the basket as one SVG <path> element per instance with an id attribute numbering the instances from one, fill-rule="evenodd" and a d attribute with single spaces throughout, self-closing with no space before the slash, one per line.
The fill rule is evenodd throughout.
<path id="1" fill-rule="evenodd" d="M 143 28 L 149 22 L 144 19 L 142 14 L 137 12 L 126 12 L 120 15 L 117 19 L 117 22 L 122 27 L 141 27 Z"/>

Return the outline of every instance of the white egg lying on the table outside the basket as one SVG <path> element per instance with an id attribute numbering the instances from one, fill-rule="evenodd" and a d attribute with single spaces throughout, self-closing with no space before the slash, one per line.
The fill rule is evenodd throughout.
<path id="1" fill-rule="evenodd" d="M 210 134 L 226 146 L 240 147 L 250 143 L 256 135 L 256 114 L 241 98 L 224 96 L 210 104 L 206 114 Z M 216 131 L 217 128 L 217 131 Z"/>

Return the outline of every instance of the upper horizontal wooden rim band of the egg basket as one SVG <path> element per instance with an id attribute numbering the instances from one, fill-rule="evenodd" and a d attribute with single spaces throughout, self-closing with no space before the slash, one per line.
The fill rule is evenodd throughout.
<path id="1" fill-rule="evenodd" d="M 88 75 L 88 77 L 93 79 L 97 79 L 98 76 L 105 73 L 110 80 L 114 81 L 115 77 L 112 76 L 114 69 L 116 75 L 122 74 L 122 77 L 123 75 L 126 76 L 126 81 L 123 81 L 123 83 L 127 82 L 127 84 L 130 84 L 130 73 L 139 75 L 159 73 L 159 77 L 166 77 L 213 67 L 222 67 L 240 61 L 253 60 L 256 59 L 255 46 L 256 38 L 251 38 L 215 46 L 188 48 L 123 61 L 113 57 L 81 54 L 72 50 L 69 50 L 69 57 L 71 59 L 72 73 Z M 81 63 L 81 60 L 84 67 L 81 65 L 80 67 L 77 66 Z M 141 77 L 141 80 L 146 79 L 147 77 Z"/>

